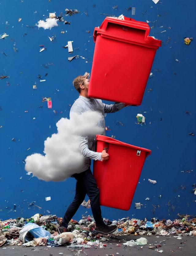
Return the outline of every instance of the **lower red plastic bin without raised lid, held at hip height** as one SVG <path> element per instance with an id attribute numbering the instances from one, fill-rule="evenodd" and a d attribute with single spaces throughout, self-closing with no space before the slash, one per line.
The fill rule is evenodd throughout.
<path id="1" fill-rule="evenodd" d="M 100 205 L 129 210 L 146 157 L 151 150 L 96 135 L 96 151 L 105 147 L 106 161 L 94 161 L 93 176 L 100 191 Z"/>

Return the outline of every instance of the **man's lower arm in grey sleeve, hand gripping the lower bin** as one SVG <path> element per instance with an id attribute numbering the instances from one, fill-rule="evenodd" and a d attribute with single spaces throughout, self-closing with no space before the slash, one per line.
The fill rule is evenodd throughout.
<path id="1" fill-rule="evenodd" d="M 109 158 L 109 154 L 107 154 L 106 150 L 103 150 L 102 152 L 95 152 L 95 151 L 89 150 L 88 136 L 80 137 L 79 149 L 84 157 L 87 157 L 93 160 L 104 161 Z"/>

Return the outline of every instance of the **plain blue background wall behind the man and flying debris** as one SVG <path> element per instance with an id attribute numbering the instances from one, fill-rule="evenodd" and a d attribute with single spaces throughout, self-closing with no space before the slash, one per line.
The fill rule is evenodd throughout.
<path id="1" fill-rule="evenodd" d="M 96 7 L 93 8 L 93 4 Z M 118 5 L 117 10 L 112 9 L 114 5 Z M 69 117 L 69 104 L 72 105 L 78 97 L 72 81 L 78 74 L 91 70 L 94 50 L 92 34 L 94 27 L 100 26 L 106 17 L 103 13 L 131 17 L 131 11 L 126 10 L 129 6 L 136 7 L 132 18 L 152 21 L 149 26 L 154 27 L 150 35 L 163 43 L 156 53 L 153 77 L 146 87 L 152 88 L 153 92 L 145 91 L 141 106 L 108 114 L 106 125 L 111 131 L 107 132 L 107 136 L 115 135 L 118 140 L 149 148 L 152 155 L 145 162 L 130 210 L 102 207 L 102 213 L 110 219 L 126 216 L 173 219 L 178 213 L 195 214 L 196 196 L 192 185 L 196 182 L 196 136 L 189 135 L 196 133 L 195 39 L 189 46 L 183 44 L 184 37 L 195 37 L 194 1 L 163 0 L 155 5 L 152 0 L 2 0 L 0 33 L 7 33 L 9 37 L 0 40 L 0 74 L 9 78 L 0 80 L 1 219 L 31 217 L 38 212 L 64 215 L 74 198 L 75 180 L 69 178 L 60 183 L 47 183 L 36 177 L 28 180 L 30 176 L 26 175 L 23 160 L 28 154 L 43 153 L 44 140 L 57 131 L 56 122 L 61 117 Z M 65 8 L 76 8 L 80 13 L 66 17 Z M 35 24 L 40 19 L 45 20 L 49 12 L 56 12 L 56 15 L 62 12 L 71 25 L 58 22 L 58 27 L 51 30 L 38 29 Z M 19 18 L 22 18 L 21 22 L 18 22 Z M 62 30 L 65 34 L 60 33 Z M 166 32 L 160 33 L 163 30 Z M 50 42 L 48 36 L 52 35 L 56 35 L 56 42 Z M 164 43 L 168 39 L 169 42 Z M 62 46 L 69 40 L 74 41 L 74 48 L 80 48 L 74 50 L 74 54 L 86 59 L 68 62 L 70 55 Z M 39 45 L 47 49 L 40 53 Z M 14 52 L 13 47 L 18 51 Z M 175 62 L 174 53 L 180 63 Z M 52 64 L 48 68 L 42 66 L 47 63 Z M 48 75 L 44 77 L 46 73 Z M 38 74 L 46 82 L 40 83 Z M 35 83 L 37 90 L 32 87 Z M 52 98 L 52 109 L 47 108 L 47 102 L 42 102 L 42 97 Z M 25 113 L 26 110 L 28 112 Z M 57 111 L 56 115 L 53 110 Z M 185 114 L 186 111 L 192 114 Z M 146 125 L 136 123 L 138 113 L 144 114 Z M 30 150 L 27 150 L 29 147 Z M 183 170 L 193 171 L 181 173 Z M 148 178 L 156 180 L 157 184 L 149 183 Z M 124 186 L 128 189 L 131 180 L 126 181 Z M 162 195 L 161 198 L 159 195 Z M 45 201 L 47 196 L 51 196 L 51 201 Z M 146 197 L 150 200 L 145 200 Z M 32 201 L 41 209 L 31 205 Z M 134 209 L 134 202 L 143 204 L 140 210 Z M 79 220 L 85 212 L 86 209 L 80 206 L 74 218 Z M 91 210 L 87 214 L 92 214 Z"/>

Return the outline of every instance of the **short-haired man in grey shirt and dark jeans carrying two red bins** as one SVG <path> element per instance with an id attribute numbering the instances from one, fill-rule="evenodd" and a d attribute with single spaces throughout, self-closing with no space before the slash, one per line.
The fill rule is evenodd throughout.
<path id="1" fill-rule="evenodd" d="M 102 135 L 105 135 L 105 113 L 114 113 L 118 110 L 121 110 L 125 106 L 125 104 L 117 103 L 107 105 L 102 103 L 100 99 L 89 98 L 89 81 L 89 73 L 84 76 L 80 75 L 74 79 L 73 85 L 75 89 L 79 92 L 79 98 L 74 102 L 74 104 L 71 107 L 70 117 L 73 113 L 81 114 L 85 111 L 100 112 L 102 114 L 102 118 L 98 126 L 104 128 L 104 133 Z M 68 223 L 76 213 L 81 203 L 84 201 L 86 194 L 89 196 L 92 214 L 96 223 L 95 231 L 100 234 L 111 234 L 117 229 L 116 225 L 105 225 L 103 218 L 101 216 L 99 190 L 97 188 L 96 181 L 90 170 L 90 165 L 91 159 L 98 161 L 106 161 L 109 158 L 109 154 L 107 154 L 107 149 L 104 149 L 101 153 L 95 152 L 95 143 L 95 136 L 81 137 L 80 151 L 81 154 L 85 157 L 85 163 L 81 167 L 81 173 L 72 175 L 72 177 L 74 177 L 77 180 L 76 194 L 74 197 L 74 201 L 70 204 L 64 215 L 61 226 L 58 228 L 59 234 L 62 232 L 66 232 Z"/>

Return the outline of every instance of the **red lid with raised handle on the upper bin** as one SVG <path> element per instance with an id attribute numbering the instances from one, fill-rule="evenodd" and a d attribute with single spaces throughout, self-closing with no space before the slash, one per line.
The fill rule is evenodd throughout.
<path id="1" fill-rule="evenodd" d="M 124 17 L 124 16 L 123 16 Z M 143 38 L 130 38 L 130 34 L 124 33 L 123 35 L 118 35 L 118 30 L 111 30 L 110 26 L 108 24 L 116 24 L 121 25 L 123 30 L 127 30 L 129 28 L 133 28 L 136 30 L 140 31 L 145 31 L 144 35 L 142 36 Z M 142 32 L 143 32 L 142 31 Z M 161 40 L 155 39 L 152 36 L 149 36 L 150 32 L 150 27 L 148 23 L 146 22 L 141 22 L 141 21 L 136 21 L 132 18 L 124 17 L 124 19 L 119 19 L 118 17 L 106 17 L 104 21 L 102 22 L 100 27 L 95 27 L 94 34 L 93 34 L 93 40 L 94 42 L 96 41 L 96 36 L 97 34 L 101 34 L 102 36 L 120 40 L 120 41 L 128 41 L 130 43 L 135 43 L 135 44 L 142 44 L 147 47 L 160 47 L 161 46 Z"/>

